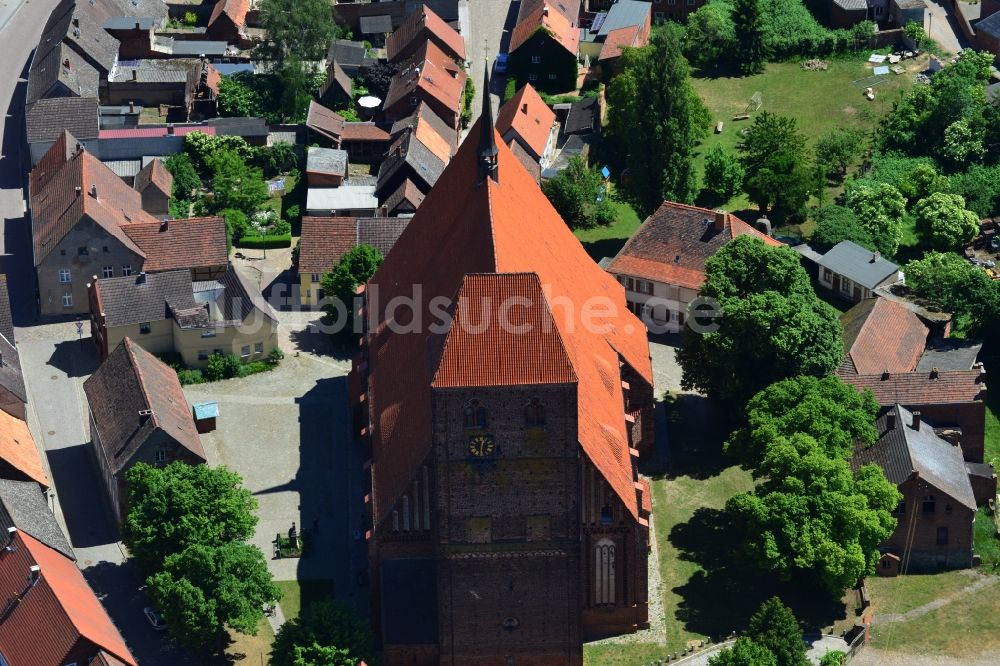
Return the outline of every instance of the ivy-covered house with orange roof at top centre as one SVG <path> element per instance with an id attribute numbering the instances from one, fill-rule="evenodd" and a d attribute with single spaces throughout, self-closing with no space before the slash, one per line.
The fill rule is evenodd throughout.
<path id="1" fill-rule="evenodd" d="M 510 71 L 546 92 L 576 88 L 579 2 L 521 0 L 510 34 Z"/>

